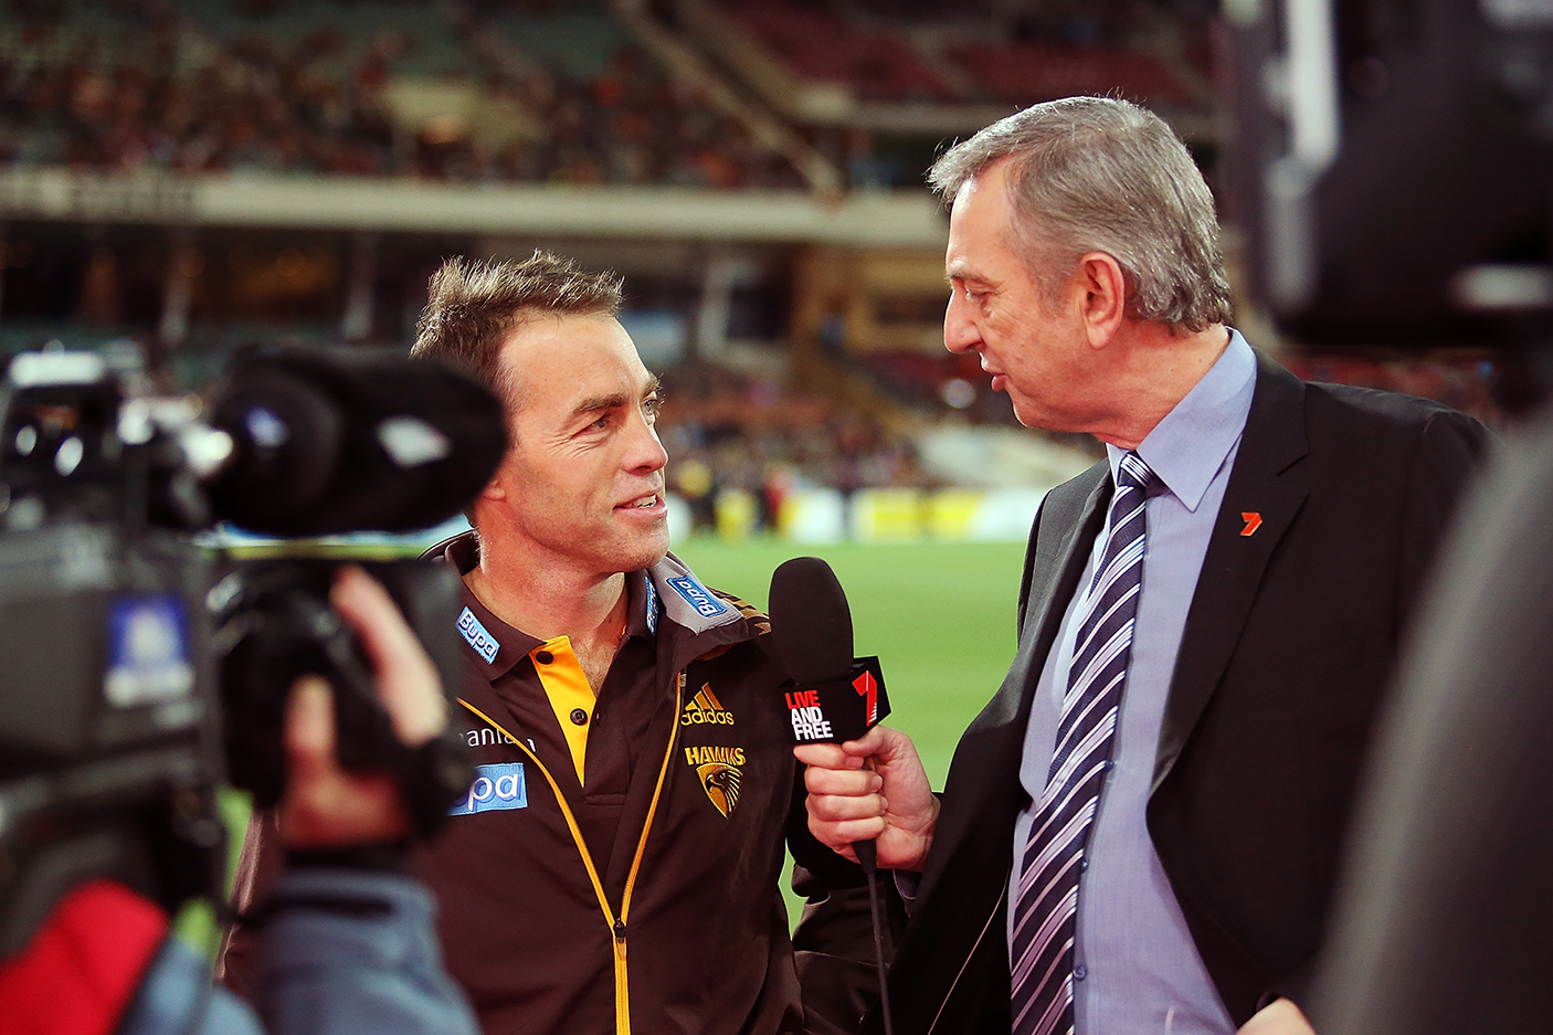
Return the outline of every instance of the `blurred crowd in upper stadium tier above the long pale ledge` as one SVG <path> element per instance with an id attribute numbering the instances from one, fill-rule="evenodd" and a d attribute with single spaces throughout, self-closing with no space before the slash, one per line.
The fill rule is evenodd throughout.
<path id="1" fill-rule="evenodd" d="M 972 0 L 922 23 L 913 3 L 714 6 L 794 81 L 865 103 L 1208 96 L 1205 0 L 1053 2 L 1014 19 Z M 800 129 L 857 186 L 918 185 L 938 140 L 902 162 L 901 141 L 862 126 Z M 604 0 L 0 0 L 5 163 L 804 186 Z"/>

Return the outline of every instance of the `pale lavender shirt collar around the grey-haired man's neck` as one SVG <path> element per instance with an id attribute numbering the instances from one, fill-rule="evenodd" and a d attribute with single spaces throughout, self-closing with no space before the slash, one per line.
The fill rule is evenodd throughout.
<path id="1" fill-rule="evenodd" d="M 1256 353 L 1230 328 L 1230 343 L 1208 373 L 1138 443 L 1137 454 L 1186 510 L 1196 513 L 1213 476 L 1246 430 L 1256 387 Z M 1106 444 L 1110 477 L 1124 449 Z"/>

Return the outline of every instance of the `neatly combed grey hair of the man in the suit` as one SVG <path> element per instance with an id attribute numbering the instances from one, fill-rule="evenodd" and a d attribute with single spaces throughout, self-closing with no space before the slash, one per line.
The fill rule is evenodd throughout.
<path id="1" fill-rule="evenodd" d="M 1079 256 L 1104 252 L 1121 266 L 1129 319 L 1191 333 L 1228 322 L 1213 194 L 1159 115 L 1104 96 L 1036 104 L 946 151 L 927 182 L 952 204 L 1003 159 L 1011 244 L 1048 301 Z"/>

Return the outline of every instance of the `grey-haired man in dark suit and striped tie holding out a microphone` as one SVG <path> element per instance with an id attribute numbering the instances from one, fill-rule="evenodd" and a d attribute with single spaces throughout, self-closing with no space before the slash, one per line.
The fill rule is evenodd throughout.
<path id="1" fill-rule="evenodd" d="M 1208 188 L 1137 106 L 1037 104 L 930 179 L 944 343 L 1107 460 L 1036 518 L 941 797 L 899 732 L 798 749 L 814 833 L 879 838 L 907 898 L 895 1029 L 1309 1032 L 1376 704 L 1486 432 L 1256 354 Z"/>

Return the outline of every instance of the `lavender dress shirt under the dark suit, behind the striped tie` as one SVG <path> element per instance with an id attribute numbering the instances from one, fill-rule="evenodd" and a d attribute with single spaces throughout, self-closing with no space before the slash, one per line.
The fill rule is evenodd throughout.
<path id="1" fill-rule="evenodd" d="M 1073 1007 L 1076 1035 L 1233 1035 L 1219 993 L 1191 940 L 1149 841 L 1143 810 L 1154 775 L 1165 698 L 1186 609 L 1218 521 L 1256 384 L 1256 357 L 1238 331 L 1218 362 L 1138 444 L 1165 491 L 1146 504 L 1143 587 L 1132 632 L 1114 768 L 1100 797 L 1079 878 Z M 1121 449 L 1106 446 L 1115 479 Z M 1059 688 L 1067 687 L 1076 615 L 1109 527 L 1090 552 L 1047 656 L 1025 730 L 1019 779 L 1037 800 L 1051 766 Z M 1014 825 L 1017 890 L 1034 803 Z M 1009 908 L 1009 928 L 1014 909 Z M 1009 929 L 1009 942 L 1013 931 Z"/>

